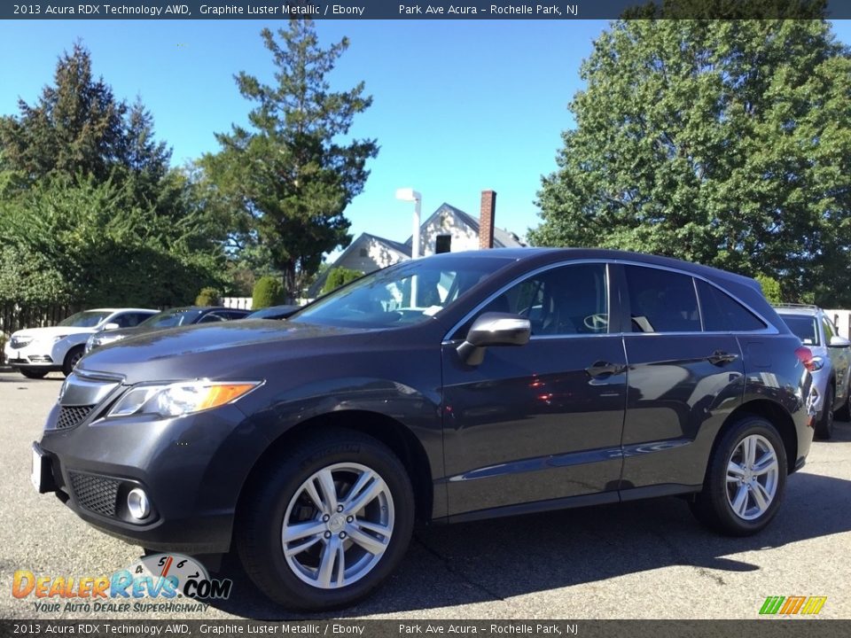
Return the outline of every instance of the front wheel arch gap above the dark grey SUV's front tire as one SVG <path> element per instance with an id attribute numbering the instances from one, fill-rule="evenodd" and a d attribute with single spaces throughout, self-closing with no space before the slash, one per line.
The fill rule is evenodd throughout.
<path id="1" fill-rule="evenodd" d="M 413 432 L 393 417 L 360 409 L 339 410 L 313 416 L 272 440 L 243 482 L 239 490 L 237 509 L 245 502 L 246 494 L 253 489 L 256 478 L 269 463 L 285 455 L 287 449 L 297 445 L 299 441 L 307 440 L 317 432 L 328 429 L 360 432 L 389 447 L 408 471 L 414 491 L 416 517 L 423 522 L 431 520 L 433 478 L 425 448 Z"/>

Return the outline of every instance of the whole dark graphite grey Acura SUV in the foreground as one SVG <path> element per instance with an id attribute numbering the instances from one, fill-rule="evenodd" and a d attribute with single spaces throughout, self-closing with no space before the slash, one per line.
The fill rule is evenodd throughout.
<path id="1" fill-rule="evenodd" d="M 235 547 L 278 603 L 353 603 L 415 518 L 685 494 L 761 530 L 813 437 L 811 354 L 746 277 L 635 253 L 446 253 L 288 321 L 128 338 L 66 379 L 33 480 L 148 549 Z"/>

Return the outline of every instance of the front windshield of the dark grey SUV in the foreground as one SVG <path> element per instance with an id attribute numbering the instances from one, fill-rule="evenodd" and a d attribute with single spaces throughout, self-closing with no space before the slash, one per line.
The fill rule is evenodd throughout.
<path id="1" fill-rule="evenodd" d="M 363 328 L 424 322 L 511 261 L 481 255 L 405 261 L 332 292 L 290 321 Z"/>

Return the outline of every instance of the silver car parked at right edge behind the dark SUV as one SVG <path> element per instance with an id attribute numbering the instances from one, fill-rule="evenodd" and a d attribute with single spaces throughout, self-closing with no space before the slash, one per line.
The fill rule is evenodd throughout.
<path id="1" fill-rule="evenodd" d="M 851 420 L 851 341 L 840 337 L 836 326 L 817 306 L 784 304 L 775 306 L 789 329 L 813 353 L 813 385 L 818 398 L 816 436 L 830 439 L 834 416 Z"/>

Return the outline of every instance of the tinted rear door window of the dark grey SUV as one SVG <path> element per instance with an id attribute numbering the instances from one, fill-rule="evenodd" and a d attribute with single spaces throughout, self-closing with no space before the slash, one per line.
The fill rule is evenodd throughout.
<path id="1" fill-rule="evenodd" d="M 698 299 L 691 276 L 627 266 L 632 332 L 699 332 Z"/>

